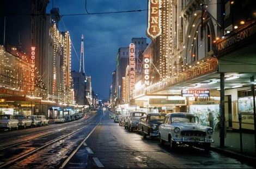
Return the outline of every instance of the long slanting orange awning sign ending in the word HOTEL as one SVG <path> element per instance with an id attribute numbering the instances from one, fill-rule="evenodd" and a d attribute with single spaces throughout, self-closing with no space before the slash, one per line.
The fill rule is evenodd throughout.
<path id="1" fill-rule="evenodd" d="M 178 85 L 179 83 L 190 81 L 210 73 L 215 73 L 217 70 L 218 61 L 216 58 L 214 58 L 204 63 L 198 64 L 196 67 L 187 69 L 184 72 L 179 73 L 178 75 L 171 77 L 162 83 L 148 87 L 147 93 L 150 94 L 151 92 L 167 89 L 168 87 Z"/>

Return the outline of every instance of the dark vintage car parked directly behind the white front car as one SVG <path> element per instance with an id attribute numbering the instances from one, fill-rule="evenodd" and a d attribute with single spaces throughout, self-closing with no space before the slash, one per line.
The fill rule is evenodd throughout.
<path id="1" fill-rule="evenodd" d="M 139 131 L 143 133 L 144 139 L 159 137 L 159 125 L 163 123 L 166 114 L 149 113 L 139 121 Z"/>

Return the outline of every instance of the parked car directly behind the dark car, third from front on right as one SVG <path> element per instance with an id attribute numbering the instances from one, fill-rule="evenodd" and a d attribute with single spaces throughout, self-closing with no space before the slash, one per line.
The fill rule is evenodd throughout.
<path id="1" fill-rule="evenodd" d="M 145 113 L 145 112 L 131 112 L 130 116 L 128 116 L 128 118 L 127 118 L 126 128 L 131 130 L 131 131 L 133 131 L 133 129 L 137 129 L 139 119 L 143 115 L 147 115 L 147 113 Z"/>

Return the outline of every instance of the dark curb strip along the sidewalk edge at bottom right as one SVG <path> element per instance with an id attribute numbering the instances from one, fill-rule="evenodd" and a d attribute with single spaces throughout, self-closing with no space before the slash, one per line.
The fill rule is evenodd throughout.
<path id="1" fill-rule="evenodd" d="M 240 154 L 240 153 L 230 151 L 230 150 L 225 150 L 223 148 L 216 147 L 216 146 L 211 146 L 211 150 L 215 151 L 215 152 L 218 152 L 218 153 L 221 153 L 223 155 L 227 155 L 229 157 L 233 157 L 237 160 L 247 161 L 248 163 L 253 164 L 253 166 L 256 166 L 255 165 L 256 158 L 254 158 L 254 157 L 244 155 L 244 154 Z"/>

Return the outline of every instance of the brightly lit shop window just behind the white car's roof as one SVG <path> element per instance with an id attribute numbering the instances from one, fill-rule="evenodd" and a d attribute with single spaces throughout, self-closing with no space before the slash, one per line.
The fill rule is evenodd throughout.
<path id="1" fill-rule="evenodd" d="M 218 129 L 220 105 L 190 105 L 190 113 L 198 116 L 201 125 Z"/>

